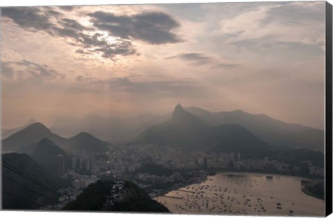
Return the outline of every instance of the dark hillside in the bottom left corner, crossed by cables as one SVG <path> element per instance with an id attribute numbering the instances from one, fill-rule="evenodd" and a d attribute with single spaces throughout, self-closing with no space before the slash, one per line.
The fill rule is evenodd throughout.
<path id="1" fill-rule="evenodd" d="M 36 209 L 58 202 L 65 181 L 26 154 L 2 154 L 3 209 Z"/>

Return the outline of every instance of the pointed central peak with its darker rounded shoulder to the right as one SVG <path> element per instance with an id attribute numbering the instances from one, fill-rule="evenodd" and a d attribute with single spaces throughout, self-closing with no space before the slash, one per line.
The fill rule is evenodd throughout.
<path id="1" fill-rule="evenodd" d="M 269 149 L 240 125 L 217 125 L 210 127 L 203 120 L 177 105 L 171 119 L 149 127 L 137 138 L 141 143 L 177 145 L 187 150 L 211 152 L 242 152 L 245 155 L 259 155 Z"/>

